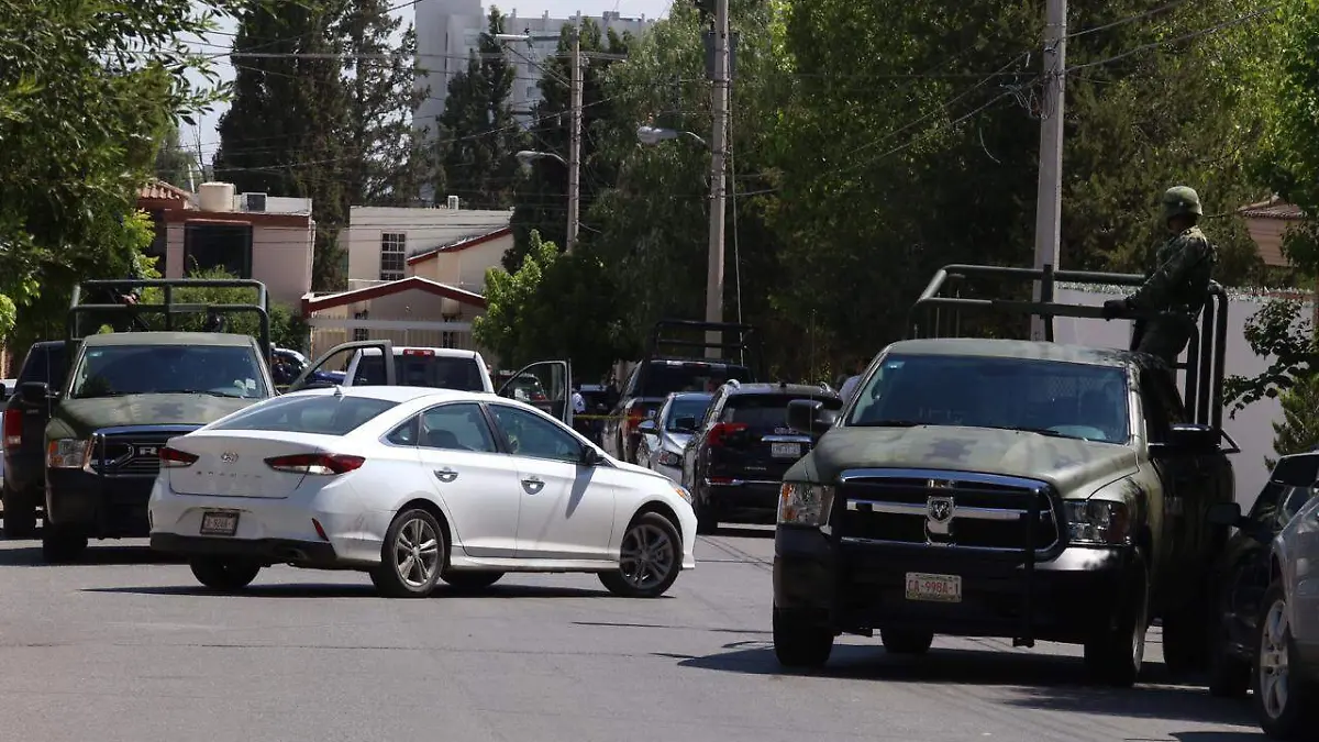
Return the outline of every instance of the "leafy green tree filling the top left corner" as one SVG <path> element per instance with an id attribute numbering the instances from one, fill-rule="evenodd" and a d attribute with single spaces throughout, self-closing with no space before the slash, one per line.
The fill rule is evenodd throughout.
<path id="1" fill-rule="evenodd" d="M 0 334 L 62 323 L 74 283 L 136 259 L 160 141 L 216 95 L 193 84 L 214 70 L 182 37 L 237 7 L 0 0 Z"/>

